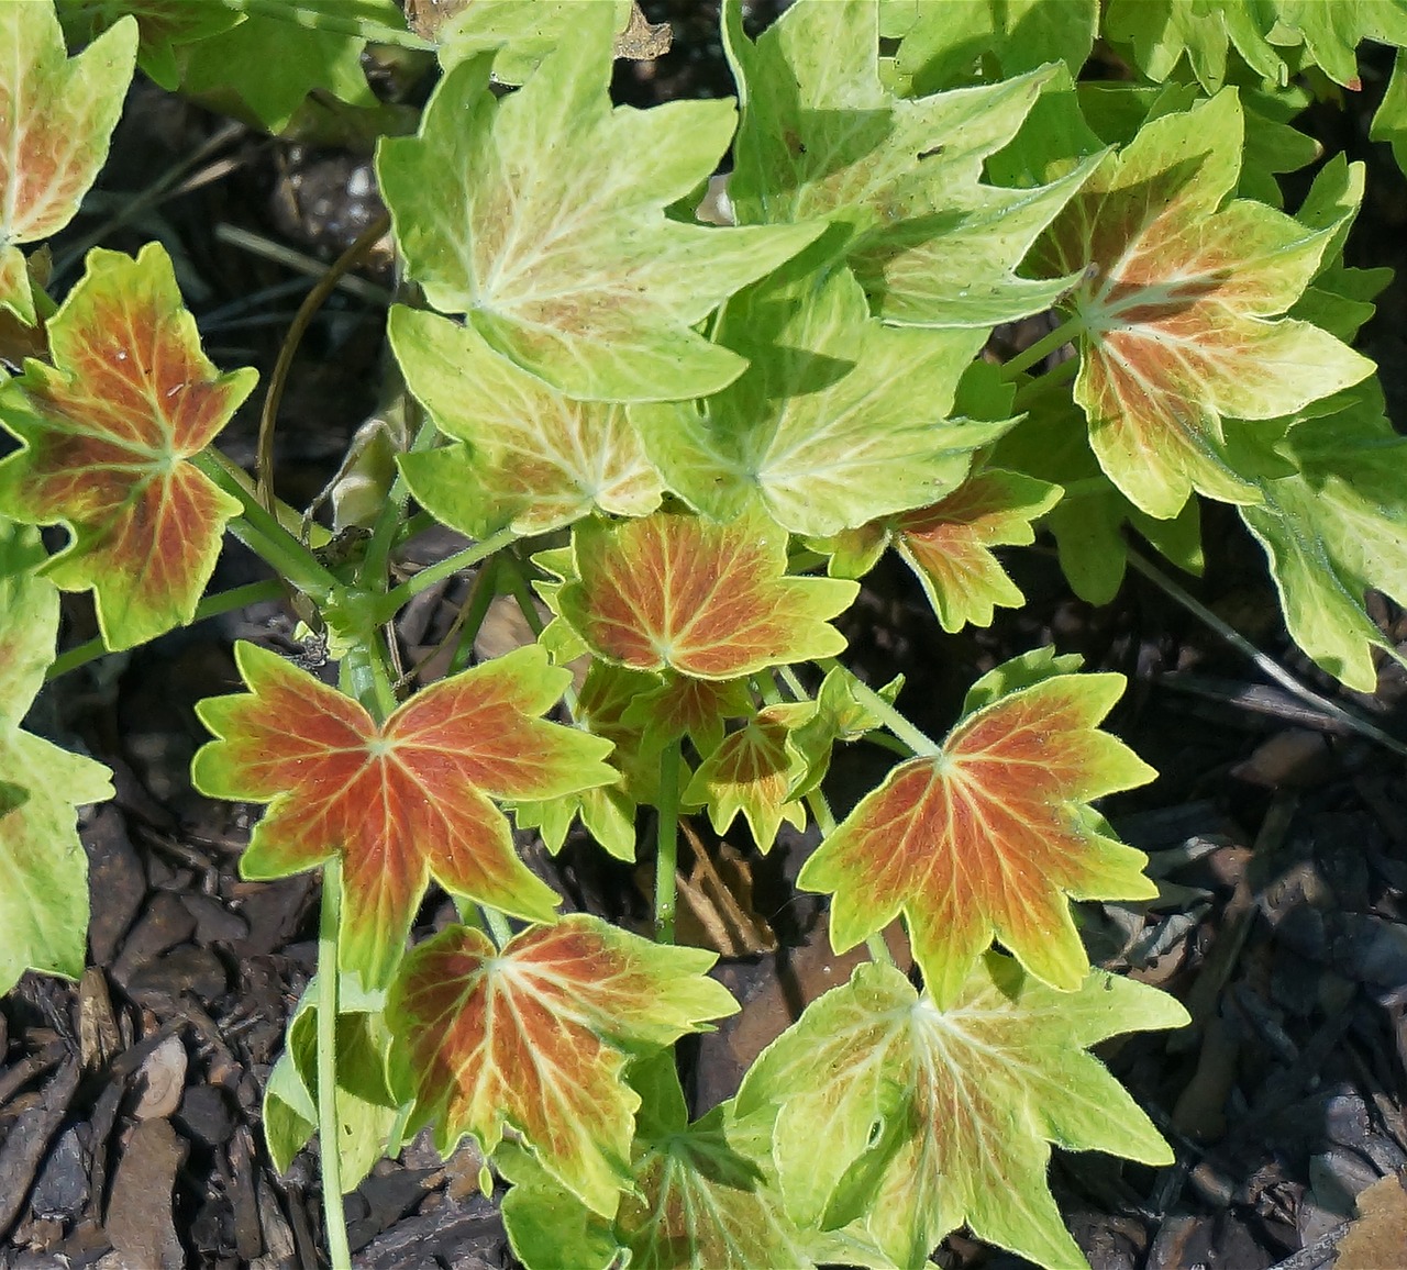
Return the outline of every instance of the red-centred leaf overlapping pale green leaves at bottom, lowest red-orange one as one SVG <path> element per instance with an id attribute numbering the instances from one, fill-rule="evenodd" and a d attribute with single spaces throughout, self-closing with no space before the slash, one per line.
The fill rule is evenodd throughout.
<path id="1" fill-rule="evenodd" d="M 715 959 L 584 914 L 502 951 L 477 930 L 442 931 L 405 959 L 388 1004 L 412 1129 L 435 1120 L 446 1155 L 464 1134 L 488 1155 L 511 1125 L 557 1181 L 612 1217 L 633 1181 L 629 1052 L 737 1010 L 705 975 Z"/>

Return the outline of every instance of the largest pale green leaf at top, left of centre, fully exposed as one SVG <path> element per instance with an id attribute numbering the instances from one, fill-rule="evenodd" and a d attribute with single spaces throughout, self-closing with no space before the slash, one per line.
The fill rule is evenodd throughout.
<path id="1" fill-rule="evenodd" d="M 664 208 L 727 148 L 726 101 L 611 108 L 612 6 L 580 7 L 573 39 L 519 91 L 490 58 L 456 66 L 421 134 L 384 141 L 381 193 L 412 277 L 501 353 L 570 397 L 671 401 L 744 363 L 689 328 L 822 225 L 716 229 Z"/>

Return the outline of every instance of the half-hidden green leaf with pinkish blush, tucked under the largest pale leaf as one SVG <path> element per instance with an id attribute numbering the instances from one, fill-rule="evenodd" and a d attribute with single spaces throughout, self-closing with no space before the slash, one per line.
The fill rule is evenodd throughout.
<path id="1" fill-rule="evenodd" d="M 573 401 L 495 353 L 471 326 L 397 305 L 391 347 L 446 436 L 400 456 L 415 498 L 474 537 L 547 533 L 601 511 L 644 516 L 663 485 L 625 408 Z"/>

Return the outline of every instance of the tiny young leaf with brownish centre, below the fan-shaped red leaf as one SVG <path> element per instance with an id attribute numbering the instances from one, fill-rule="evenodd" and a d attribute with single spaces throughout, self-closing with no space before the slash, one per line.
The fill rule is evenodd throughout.
<path id="1" fill-rule="evenodd" d="M 771 849 L 784 820 L 803 828 L 806 807 L 794 790 L 806 774 L 806 759 L 789 737 L 813 713 L 809 702 L 758 710 L 699 764 L 684 790 L 685 806 L 706 806 L 720 834 L 741 812 L 763 852 Z"/>

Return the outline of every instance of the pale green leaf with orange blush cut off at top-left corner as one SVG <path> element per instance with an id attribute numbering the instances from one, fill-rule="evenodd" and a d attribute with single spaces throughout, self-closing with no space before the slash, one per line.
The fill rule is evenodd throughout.
<path id="1" fill-rule="evenodd" d="M 0 309 L 35 322 L 18 243 L 58 233 L 97 179 L 136 58 L 120 23 L 76 58 L 53 6 L 0 4 Z"/>

